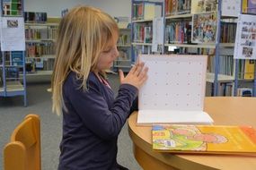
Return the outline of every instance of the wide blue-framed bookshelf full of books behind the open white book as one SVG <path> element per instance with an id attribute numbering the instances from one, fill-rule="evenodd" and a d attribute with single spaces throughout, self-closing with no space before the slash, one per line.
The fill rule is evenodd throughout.
<path id="1" fill-rule="evenodd" d="M 208 55 L 207 83 L 212 86 L 211 96 L 236 96 L 237 80 L 242 82 L 241 87 L 244 81 L 255 80 L 252 70 L 256 68 L 255 61 L 249 64 L 234 60 L 236 22 L 244 6 L 242 1 L 250 0 L 164 0 L 163 4 L 132 1 L 132 62 L 137 61 L 139 54 Z M 153 22 L 162 14 L 157 5 L 163 8 L 163 49 L 153 52 Z M 254 81 L 253 91 L 255 84 Z"/>

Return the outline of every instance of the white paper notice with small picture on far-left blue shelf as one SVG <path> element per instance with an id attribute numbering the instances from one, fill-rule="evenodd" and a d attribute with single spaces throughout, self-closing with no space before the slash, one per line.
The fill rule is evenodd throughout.
<path id="1" fill-rule="evenodd" d="M 25 51 L 25 30 L 22 17 L 1 18 L 1 50 Z"/>

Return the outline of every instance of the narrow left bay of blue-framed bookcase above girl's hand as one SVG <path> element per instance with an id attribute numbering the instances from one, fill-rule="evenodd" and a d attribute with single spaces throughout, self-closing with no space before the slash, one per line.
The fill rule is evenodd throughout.
<path id="1" fill-rule="evenodd" d="M 163 1 L 131 1 L 132 64 L 134 64 L 137 61 L 138 54 L 153 53 L 153 21 L 154 18 L 162 16 Z M 163 43 L 161 44 L 163 45 Z"/>

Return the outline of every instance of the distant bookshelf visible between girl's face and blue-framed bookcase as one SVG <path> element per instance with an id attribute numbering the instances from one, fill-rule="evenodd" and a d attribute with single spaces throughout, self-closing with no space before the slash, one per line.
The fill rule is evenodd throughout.
<path id="1" fill-rule="evenodd" d="M 131 67 L 131 30 L 130 29 L 119 29 L 119 41 L 118 50 L 119 57 L 114 61 L 113 72 L 118 72 L 121 69 L 124 72 L 128 72 Z"/>

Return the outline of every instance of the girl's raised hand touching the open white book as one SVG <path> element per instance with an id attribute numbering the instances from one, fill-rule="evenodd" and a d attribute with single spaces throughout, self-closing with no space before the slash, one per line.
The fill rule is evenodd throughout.
<path id="1" fill-rule="evenodd" d="M 147 71 L 144 63 L 135 64 L 126 77 L 124 72 L 119 70 L 120 84 L 130 84 L 140 89 L 147 80 Z"/>

